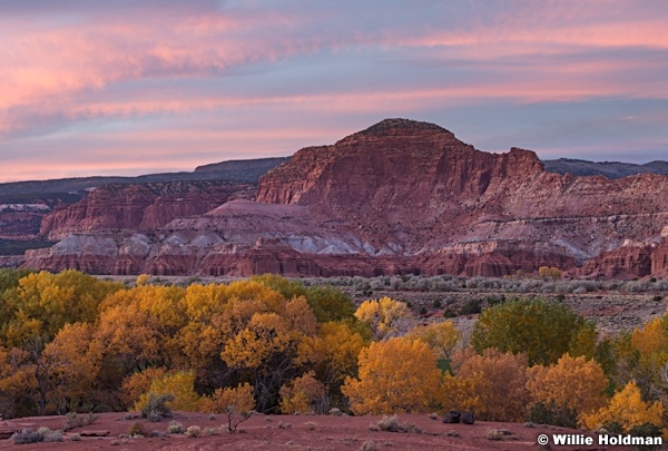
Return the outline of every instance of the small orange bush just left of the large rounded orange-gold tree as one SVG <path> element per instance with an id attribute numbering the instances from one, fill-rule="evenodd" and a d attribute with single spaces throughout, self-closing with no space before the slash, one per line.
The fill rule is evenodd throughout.
<path id="1" fill-rule="evenodd" d="M 310 371 L 281 388 L 281 413 L 324 413 L 325 385 Z"/>

